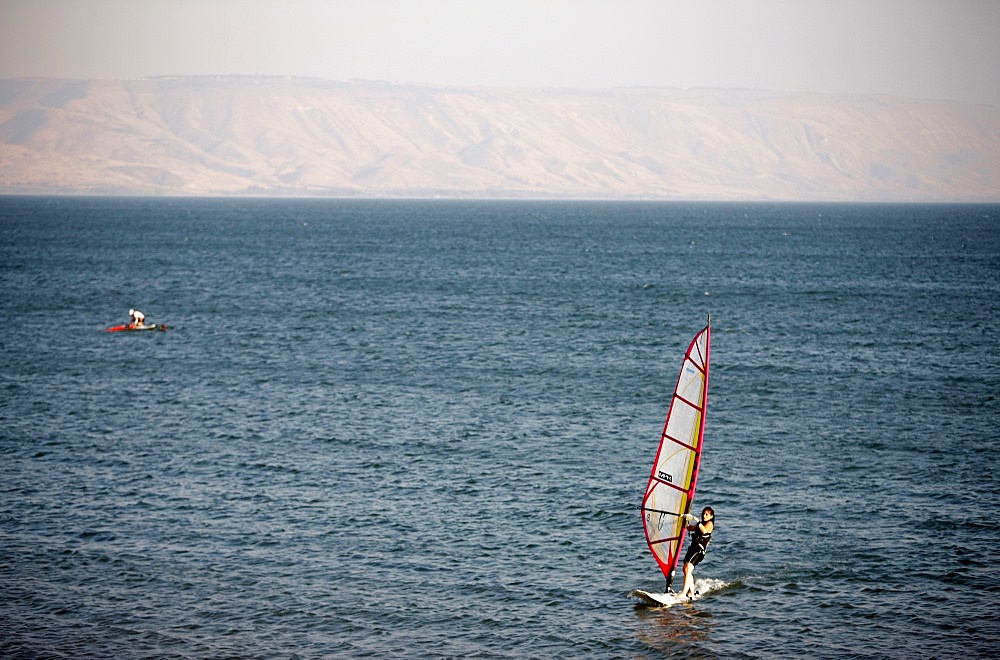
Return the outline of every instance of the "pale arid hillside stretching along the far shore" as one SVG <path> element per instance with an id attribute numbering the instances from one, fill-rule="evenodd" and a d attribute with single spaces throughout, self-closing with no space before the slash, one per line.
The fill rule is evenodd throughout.
<path id="1" fill-rule="evenodd" d="M 0 81 L 0 194 L 1000 201 L 1000 108 L 746 90 Z"/>

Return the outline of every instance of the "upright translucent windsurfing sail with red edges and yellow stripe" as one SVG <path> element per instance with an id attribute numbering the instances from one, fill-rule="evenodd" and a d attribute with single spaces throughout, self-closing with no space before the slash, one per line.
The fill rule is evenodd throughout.
<path id="1" fill-rule="evenodd" d="M 667 579 L 667 592 L 684 545 L 684 514 L 689 513 L 698 485 L 708 404 L 711 334 L 709 316 L 707 325 L 691 340 L 684 354 L 640 507 L 646 543 Z"/>

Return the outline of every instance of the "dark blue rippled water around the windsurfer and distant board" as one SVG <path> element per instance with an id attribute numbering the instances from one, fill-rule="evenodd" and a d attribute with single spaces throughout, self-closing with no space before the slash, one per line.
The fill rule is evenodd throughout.
<path id="1" fill-rule="evenodd" d="M 1000 653 L 1000 207 L 4 198 L 0 273 L 0 655 Z"/>

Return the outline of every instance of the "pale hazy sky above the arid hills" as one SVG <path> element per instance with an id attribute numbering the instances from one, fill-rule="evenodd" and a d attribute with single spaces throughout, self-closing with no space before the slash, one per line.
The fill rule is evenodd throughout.
<path id="1" fill-rule="evenodd" d="M 0 78 L 233 73 L 1000 105 L 1000 1 L 0 0 Z"/>

